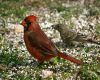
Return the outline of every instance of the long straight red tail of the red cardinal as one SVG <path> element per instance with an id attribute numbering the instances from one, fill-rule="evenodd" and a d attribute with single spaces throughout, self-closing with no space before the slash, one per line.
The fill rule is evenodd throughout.
<path id="1" fill-rule="evenodd" d="M 82 64 L 82 61 L 80 61 L 80 60 L 78 60 L 78 59 L 76 59 L 76 58 L 74 58 L 74 57 L 71 57 L 71 56 L 69 56 L 69 55 L 66 55 L 66 54 L 64 54 L 64 53 L 61 53 L 61 52 L 60 52 L 60 53 L 58 54 L 58 56 L 61 57 L 61 58 L 66 59 L 66 60 L 69 60 L 69 61 L 71 61 L 71 62 L 73 62 L 73 63 L 76 63 L 76 64 L 78 64 L 78 65 Z"/>

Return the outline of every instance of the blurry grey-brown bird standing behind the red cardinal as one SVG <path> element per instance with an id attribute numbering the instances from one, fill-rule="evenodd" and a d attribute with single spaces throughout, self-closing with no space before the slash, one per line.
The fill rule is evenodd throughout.
<path id="1" fill-rule="evenodd" d="M 88 38 L 86 35 L 75 32 L 74 30 L 69 29 L 65 24 L 55 24 L 52 25 L 52 28 L 57 30 L 60 33 L 61 39 L 63 42 L 68 45 L 74 45 L 75 42 L 82 43 L 94 43 L 100 45 L 100 41 L 95 41 L 91 38 Z"/>

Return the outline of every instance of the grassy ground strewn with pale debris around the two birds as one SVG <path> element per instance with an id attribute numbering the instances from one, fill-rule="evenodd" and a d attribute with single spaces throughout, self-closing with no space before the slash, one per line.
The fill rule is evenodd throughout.
<path id="1" fill-rule="evenodd" d="M 22 0 L 23 1 L 23 0 Z M 33 2 L 31 2 L 33 1 Z M 41 0 L 42 1 L 42 0 Z M 0 79 L 1 80 L 100 80 L 100 45 L 65 47 L 52 24 L 65 23 L 71 29 L 100 41 L 98 6 L 79 7 L 47 1 L 2 1 L 0 5 Z M 56 4 L 59 4 L 57 6 Z M 55 6 L 56 5 L 56 6 Z M 95 7 L 94 7 L 95 6 Z M 10 8 L 12 8 L 10 10 Z M 90 14 L 91 13 L 91 14 Z M 42 30 L 62 52 L 84 62 L 76 65 L 61 58 L 39 64 L 26 50 L 20 22 L 27 15 L 36 15 Z M 60 44 L 56 44 L 60 42 Z"/>

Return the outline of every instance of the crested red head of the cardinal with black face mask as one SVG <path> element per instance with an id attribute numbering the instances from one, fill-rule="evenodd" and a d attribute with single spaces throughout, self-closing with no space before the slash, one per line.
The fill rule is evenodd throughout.
<path id="1" fill-rule="evenodd" d="M 37 17 L 34 16 L 34 15 L 27 16 L 27 17 L 22 21 L 21 25 L 24 26 L 24 29 L 26 30 L 26 29 L 29 28 L 29 26 L 30 26 L 32 23 L 36 22 L 36 19 L 37 19 Z"/>

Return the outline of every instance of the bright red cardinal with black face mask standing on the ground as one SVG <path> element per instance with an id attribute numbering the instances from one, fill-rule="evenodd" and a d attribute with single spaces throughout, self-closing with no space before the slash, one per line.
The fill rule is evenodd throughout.
<path id="1" fill-rule="evenodd" d="M 24 41 L 26 48 L 34 58 L 39 62 L 44 62 L 58 56 L 70 60 L 73 63 L 82 64 L 80 60 L 60 52 L 42 31 L 36 19 L 36 16 L 30 15 L 21 23 L 24 26 Z"/>

